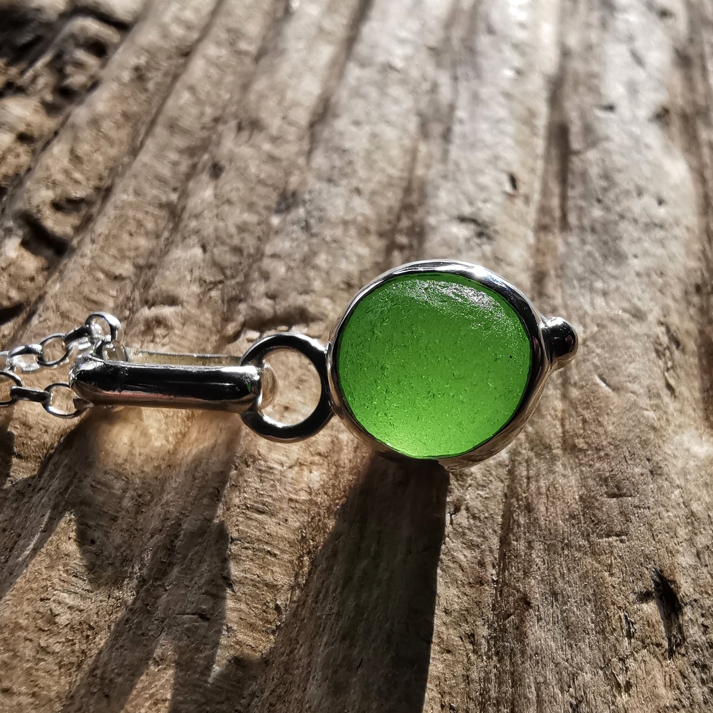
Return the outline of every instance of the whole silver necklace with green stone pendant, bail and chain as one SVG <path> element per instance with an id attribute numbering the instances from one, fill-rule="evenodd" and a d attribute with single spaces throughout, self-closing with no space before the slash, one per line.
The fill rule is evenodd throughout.
<path id="1" fill-rule="evenodd" d="M 0 406 L 35 401 L 63 417 L 89 406 L 234 411 L 274 441 L 308 438 L 337 414 L 386 456 L 458 468 L 515 438 L 549 374 L 578 344 L 568 322 L 543 317 L 499 275 L 448 260 L 411 262 L 374 279 L 349 303 L 326 346 L 281 332 L 238 359 L 130 349 L 119 334 L 118 319 L 99 312 L 71 332 L 0 352 L 0 384 L 9 382 Z M 53 345 L 59 356 L 50 356 Z M 277 389 L 265 357 L 277 349 L 296 349 L 319 374 L 319 403 L 298 424 L 263 411 Z M 21 374 L 68 361 L 67 384 L 24 386 Z M 56 405 L 61 389 L 71 389 L 73 409 Z"/>

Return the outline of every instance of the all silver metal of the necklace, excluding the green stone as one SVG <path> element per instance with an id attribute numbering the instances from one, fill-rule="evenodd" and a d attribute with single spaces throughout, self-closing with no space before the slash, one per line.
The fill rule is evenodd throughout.
<path id="1" fill-rule="evenodd" d="M 391 279 L 413 273 L 445 272 L 482 284 L 506 299 L 520 317 L 530 341 L 530 376 L 518 408 L 498 433 L 468 453 L 437 458 L 448 468 L 461 468 L 493 456 L 508 445 L 525 425 L 540 398 L 548 376 L 568 364 L 577 351 L 572 325 L 561 317 L 543 317 L 530 300 L 500 275 L 478 265 L 452 260 L 422 260 L 401 265 L 361 289 L 334 325 L 329 343 L 282 332 L 258 340 L 242 357 L 216 354 L 164 354 L 123 347 L 121 323 L 108 312 L 93 312 L 84 324 L 65 333 L 50 334 L 37 344 L 22 344 L 0 352 L 0 386 L 9 398 L 41 404 L 53 416 L 74 418 L 90 406 L 160 406 L 211 409 L 239 413 L 253 431 L 273 441 L 300 441 L 322 429 L 333 414 L 359 438 L 387 456 L 403 458 L 365 431 L 349 411 L 339 384 L 337 355 L 343 327 L 367 294 Z M 298 424 L 283 424 L 267 416 L 264 407 L 276 391 L 275 376 L 265 356 L 277 349 L 294 349 L 307 356 L 319 375 L 319 402 Z M 43 389 L 26 386 L 20 374 L 70 364 L 68 382 Z M 9 381 L 8 384 L 4 384 Z M 72 408 L 56 401 L 65 392 Z"/>

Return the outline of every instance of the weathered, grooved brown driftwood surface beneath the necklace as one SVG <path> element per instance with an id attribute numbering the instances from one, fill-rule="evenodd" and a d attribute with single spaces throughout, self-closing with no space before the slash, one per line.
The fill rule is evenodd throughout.
<path id="1" fill-rule="evenodd" d="M 3 344 L 324 338 L 453 257 L 581 347 L 451 476 L 1 414 L 0 710 L 712 710 L 712 73 L 704 0 L 2 0 Z"/>

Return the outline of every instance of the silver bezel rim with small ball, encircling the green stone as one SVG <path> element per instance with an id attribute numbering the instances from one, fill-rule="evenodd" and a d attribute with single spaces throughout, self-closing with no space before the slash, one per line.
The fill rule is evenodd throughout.
<path id="1" fill-rule="evenodd" d="M 384 272 L 383 275 L 379 275 L 379 277 L 376 277 L 361 289 L 359 294 L 356 294 L 356 297 L 352 299 L 347 309 L 344 310 L 342 317 L 334 324 L 332 333 L 329 336 L 329 344 L 327 345 L 327 374 L 329 378 L 329 395 L 334 413 L 342 418 L 344 424 L 347 425 L 347 428 L 352 433 L 374 446 L 379 453 L 385 456 L 395 458 L 409 457 L 394 451 L 386 443 L 374 438 L 349 411 L 339 384 L 339 371 L 337 369 L 342 328 L 347 324 L 361 299 L 373 292 L 377 287 L 381 287 L 382 284 L 386 284 L 386 282 L 390 282 L 392 279 L 402 275 L 433 272 L 445 272 L 472 279 L 474 282 L 482 284 L 483 287 L 487 287 L 501 295 L 520 317 L 520 321 L 530 340 L 532 354 L 530 375 L 525 391 L 523 391 L 523 396 L 520 399 L 520 404 L 513 412 L 511 419 L 488 441 L 481 443 L 473 450 L 457 456 L 432 459 L 446 466 L 446 468 L 466 468 L 473 465 L 473 463 L 490 458 L 513 441 L 513 438 L 523 429 L 525 422 L 532 414 L 535 406 L 537 406 L 550 372 L 560 366 L 564 366 L 574 356 L 577 350 L 577 336 L 573 327 L 568 322 L 565 322 L 564 319 L 543 317 L 517 287 L 495 272 L 487 270 L 480 265 L 471 265 L 468 262 L 453 260 L 419 260 L 418 262 L 409 262 L 406 265 L 396 267 L 394 270 Z"/>

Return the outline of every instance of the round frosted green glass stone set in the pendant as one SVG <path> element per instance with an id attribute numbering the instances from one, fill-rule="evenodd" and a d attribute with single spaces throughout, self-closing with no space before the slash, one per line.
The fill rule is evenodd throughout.
<path id="1" fill-rule="evenodd" d="M 342 325 L 344 401 L 371 436 L 413 458 L 472 451 L 510 421 L 530 374 L 530 340 L 493 290 L 446 272 L 394 277 Z"/>

